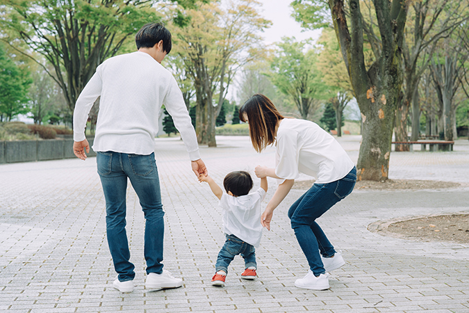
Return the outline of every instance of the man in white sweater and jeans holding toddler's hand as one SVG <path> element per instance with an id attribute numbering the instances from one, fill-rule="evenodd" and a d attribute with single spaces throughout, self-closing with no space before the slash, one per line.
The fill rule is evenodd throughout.
<path id="1" fill-rule="evenodd" d="M 165 104 L 179 130 L 195 175 L 207 175 L 194 127 L 181 90 L 161 61 L 171 51 L 171 33 L 163 24 L 147 24 L 135 35 L 138 51 L 115 56 L 96 69 L 76 101 L 74 111 L 74 154 L 86 159 L 90 146 L 85 138 L 88 113 L 97 99 L 99 114 L 93 150 L 106 199 L 106 232 L 114 268 L 113 287 L 133 291 L 135 266 L 129 262 L 126 236 L 127 177 L 145 214 L 145 260 L 147 289 L 177 288 L 182 280 L 163 271 L 164 211 L 161 204 L 154 138 L 158 133 L 158 111 Z"/>

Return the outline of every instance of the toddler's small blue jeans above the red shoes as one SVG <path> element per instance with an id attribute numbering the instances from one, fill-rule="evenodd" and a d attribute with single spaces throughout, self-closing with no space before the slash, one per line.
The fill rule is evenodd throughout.
<path id="1" fill-rule="evenodd" d="M 257 268 L 256 248 L 233 234 L 227 234 L 226 236 L 227 241 L 224 242 L 222 250 L 218 253 L 215 271 L 228 273 L 228 266 L 236 255 L 241 255 L 245 259 L 245 268 L 250 266 Z"/>

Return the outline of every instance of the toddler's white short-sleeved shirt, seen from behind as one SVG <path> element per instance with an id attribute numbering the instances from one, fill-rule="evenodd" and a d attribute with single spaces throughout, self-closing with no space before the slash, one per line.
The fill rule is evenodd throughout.
<path id="1" fill-rule="evenodd" d="M 263 188 L 239 197 L 223 193 L 220 199 L 220 207 L 223 209 L 223 232 L 233 234 L 258 247 L 262 237 L 261 202 L 264 198 Z"/>

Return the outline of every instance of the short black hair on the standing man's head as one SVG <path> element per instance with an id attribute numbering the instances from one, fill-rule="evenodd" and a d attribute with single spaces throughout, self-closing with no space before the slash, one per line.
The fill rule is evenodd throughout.
<path id="1" fill-rule="evenodd" d="M 171 51 L 171 33 L 168 31 L 163 23 L 149 23 L 145 24 L 137 35 L 135 35 L 135 44 L 137 49 L 151 48 L 158 42 L 163 40 L 163 51 L 169 54 Z"/>

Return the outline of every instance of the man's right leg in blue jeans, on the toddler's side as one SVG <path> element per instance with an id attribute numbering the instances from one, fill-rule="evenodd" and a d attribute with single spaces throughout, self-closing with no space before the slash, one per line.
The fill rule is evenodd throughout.
<path id="1" fill-rule="evenodd" d="M 145 260 L 147 274 L 163 273 L 165 223 L 161 203 L 160 180 L 154 154 L 123 154 L 124 168 L 131 180 L 145 215 Z"/>

